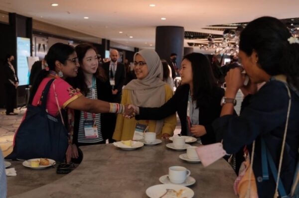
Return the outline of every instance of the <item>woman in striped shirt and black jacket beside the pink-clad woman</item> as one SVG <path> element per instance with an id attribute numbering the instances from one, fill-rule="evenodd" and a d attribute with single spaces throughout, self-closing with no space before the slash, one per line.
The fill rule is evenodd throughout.
<path id="1" fill-rule="evenodd" d="M 109 79 L 105 76 L 103 68 L 99 67 L 96 49 L 89 44 L 79 44 L 75 47 L 80 67 L 78 75 L 70 79 L 74 88 L 88 99 L 100 99 L 112 102 L 112 92 Z M 102 71 L 101 71 L 102 70 Z M 116 116 L 112 113 L 90 113 L 75 110 L 73 144 L 79 146 L 105 144 L 106 139 L 113 134 Z M 97 134 L 89 134 L 84 130 L 88 123 L 96 126 Z M 72 156 L 82 160 L 82 156 Z"/>

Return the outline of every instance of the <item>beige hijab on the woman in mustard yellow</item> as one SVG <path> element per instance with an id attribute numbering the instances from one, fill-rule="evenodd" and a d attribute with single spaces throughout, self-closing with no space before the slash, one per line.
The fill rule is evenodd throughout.
<path id="1" fill-rule="evenodd" d="M 144 49 L 134 55 L 141 55 L 147 63 L 149 74 L 142 80 L 132 80 L 124 89 L 131 90 L 132 103 L 143 107 L 159 107 L 165 103 L 165 83 L 162 81 L 163 68 L 160 57 L 154 50 Z M 159 135 L 163 120 L 157 120 L 155 133 Z"/>

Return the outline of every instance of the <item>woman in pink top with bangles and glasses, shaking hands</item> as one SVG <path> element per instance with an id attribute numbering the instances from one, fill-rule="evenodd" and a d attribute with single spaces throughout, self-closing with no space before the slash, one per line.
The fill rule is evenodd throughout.
<path id="1" fill-rule="evenodd" d="M 78 73 L 78 57 L 75 49 L 63 43 L 56 43 L 52 45 L 45 57 L 48 68 L 42 70 L 36 78 L 29 102 L 32 105 L 38 105 L 39 99 L 46 84 L 53 78 L 48 97 L 46 109 L 52 116 L 59 116 L 60 109 L 67 111 L 67 125 L 69 131 L 69 148 L 67 153 L 72 158 L 78 157 L 78 150 L 76 146 L 71 146 L 73 126 L 74 126 L 74 109 L 92 112 L 92 113 L 125 113 L 125 106 L 118 103 L 109 103 L 99 99 L 87 99 L 79 90 L 75 90 L 64 79 L 68 77 L 76 77 Z M 56 97 L 57 96 L 57 101 Z M 58 104 L 57 104 L 58 103 Z M 59 107 L 58 107 L 59 106 Z M 127 112 L 128 111 L 128 112 Z M 126 114 L 131 114 L 126 109 Z M 70 159 L 67 159 L 70 161 Z"/>

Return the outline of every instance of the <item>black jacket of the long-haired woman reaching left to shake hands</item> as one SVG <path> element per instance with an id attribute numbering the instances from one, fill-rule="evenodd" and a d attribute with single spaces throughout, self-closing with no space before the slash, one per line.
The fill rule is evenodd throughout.
<path id="1" fill-rule="evenodd" d="M 175 94 L 165 104 L 160 107 L 146 108 L 140 107 L 140 114 L 136 119 L 163 119 L 177 111 L 181 122 L 181 135 L 187 135 L 187 105 L 189 97 L 189 85 L 179 86 Z M 212 122 L 220 116 L 220 101 L 224 96 L 224 90 L 214 87 L 212 96 L 206 96 L 208 103 L 199 104 L 199 124 L 203 125 L 207 134 L 201 136 L 203 144 L 215 143 L 215 134 L 212 128 Z"/>

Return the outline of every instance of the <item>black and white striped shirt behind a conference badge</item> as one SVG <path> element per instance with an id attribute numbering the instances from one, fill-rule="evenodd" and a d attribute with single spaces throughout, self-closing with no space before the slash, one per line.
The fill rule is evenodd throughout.
<path id="1" fill-rule="evenodd" d="M 95 85 L 94 88 L 95 91 L 95 99 L 98 98 L 98 94 L 97 94 L 97 85 Z M 89 88 L 89 91 L 86 95 L 86 98 L 88 99 L 92 99 L 92 88 Z M 99 137 L 97 138 L 86 138 L 85 137 L 85 132 L 84 132 L 84 121 L 85 120 L 94 120 L 94 118 L 92 117 L 92 113 L 87 112 L 87 118 L 85 119 L 84 117 L 84 111 L 80 112 L 80 121 L 79 121 L 79 130 L 78 130 L 78 142 L 80 143 L 97 143 L 97 142 L 101 142 L 104 140 L 103 136 L 102 136 L 102 131 L 101 131 L 101 113 L 96 113 L 96 117 L 95 117 L 95 121 L 98 127 L 98 135 Z"/>

